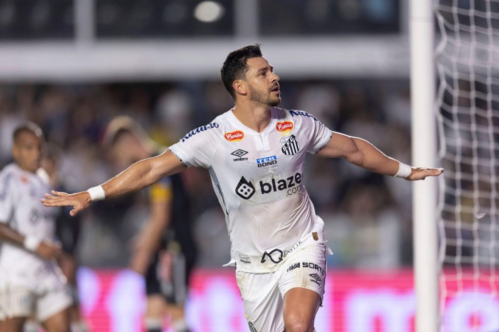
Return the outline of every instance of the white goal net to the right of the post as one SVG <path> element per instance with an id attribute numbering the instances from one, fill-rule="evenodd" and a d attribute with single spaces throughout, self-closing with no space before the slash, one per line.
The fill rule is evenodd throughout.
<path id="1" fill-rule="evenodd" d="M 499 0 L 435 12 L 441 331 L 499 331 Z"/>

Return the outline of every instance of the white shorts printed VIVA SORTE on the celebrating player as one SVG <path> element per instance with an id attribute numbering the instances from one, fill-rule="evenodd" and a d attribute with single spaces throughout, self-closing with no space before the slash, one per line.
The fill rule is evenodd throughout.
<path id="1" fill-rule="evenodd" d="M 284 331 L 283 297 L 291 288 L 306 288 L 324 297 L 326 255 L 323 243 L 311 243 L 289 254 L 282 266 L 271 273 L 236 271 L 251 332 Z"/>

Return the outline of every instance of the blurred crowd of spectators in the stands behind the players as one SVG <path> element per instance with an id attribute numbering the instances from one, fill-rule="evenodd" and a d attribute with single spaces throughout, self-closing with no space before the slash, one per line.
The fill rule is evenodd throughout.
<path id="1" fill-rule="evenodd" d="M 362 137 L 389 156 L 410 161 L 406 81 L 281 77 L 280 83 L 280 107 L 307 111 L 333 131 Z M 113 117 L 129 115 L 157 143 L 168 147 L 232 106 L 231 97 L 216 80 L 4 84 L 0 87 L 0 167 L 10 162 L 13 128 L 30 120 L 60 149 L 58 167 L 66 190 L 85 190 L 128 166 L 113 164 L 102 144 Z M 343 160 L 307 158 L 305 184 L 334 251 L 329 265 L 375 269 L 410 265 L 410 182 L 370 173 Z M 183 177 L 195 217 L 198 265 L 218 268 L 230 259 L 230 242 L 208 172 L 191 168 Z M 126 267 L 134 235 L 147 220 L 147 207 L 138 194 L 94 203 L 81 221 L 80 264 Z"/>

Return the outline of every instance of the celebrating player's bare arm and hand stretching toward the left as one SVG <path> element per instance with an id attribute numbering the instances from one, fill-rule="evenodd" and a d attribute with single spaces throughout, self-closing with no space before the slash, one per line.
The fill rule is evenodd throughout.
<path id="1" fill-rule="evenodd" d="M 165 175 L 172 175 L 185 169 L 184 164 L 170 150 L 163 154 L 144 159 L 128 167 L 101 185 L 105 198 L 114 198 L 140 190 L 153 184 Z M 45 206 L 73 206 L 69 213 L 74 216 L 88 207 L 92 199 L 88 191 L 73 194 L 52 191 L 40 199 Z"/>

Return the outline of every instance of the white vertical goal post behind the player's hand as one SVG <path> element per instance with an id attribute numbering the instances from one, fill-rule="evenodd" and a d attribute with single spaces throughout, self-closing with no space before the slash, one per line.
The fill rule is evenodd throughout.
<path id="1" fill-rule="evenodd" d="M 432 0 L 411 0 L 412 166 L 436 167 L 434 12 Z M 437 279 L 437 179 L 413 183 L 416 332 L 439 330 Z"/>

